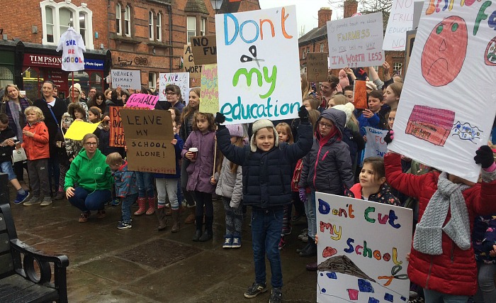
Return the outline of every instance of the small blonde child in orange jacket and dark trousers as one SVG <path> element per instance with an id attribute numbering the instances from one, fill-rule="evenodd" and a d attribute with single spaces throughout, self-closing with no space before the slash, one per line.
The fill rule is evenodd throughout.
<path id="1" fill-rule="evenodd" d="M 43 116 L 43 111 L 36 106 L 29 106 L 24 114 L 28 125 L 23 128 L 21 147 L 26 150 L 28 157 L 29 183 L 33 194 L 33 197 L 24 202 L 24 205 L 41 204 L 41 206 L 48 206 L 52 204 L 52 198 L 48 183 L 50 147 L 48 146 L 48 128 L 43 122 L 45 116 Z"/>

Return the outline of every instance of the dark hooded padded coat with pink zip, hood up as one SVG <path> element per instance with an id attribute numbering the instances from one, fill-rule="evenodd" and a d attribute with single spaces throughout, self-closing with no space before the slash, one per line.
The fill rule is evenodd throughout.
<path id="1" fill-rule="evenodd" d="M 329 119 L 337 127 L 337 134 L 322 142 L 318 124 L 323 118 Z M 310 153 L 303 158 L 303 168 L 298 187 L 310 187 L 312 191 L 327 194 L 344 194 L 345 188 L 351 188 L 353 172 L 351 170 L 351 157 L 349 146 L 341 140 L 343 138 L 346 114 L 337 109 L 322 111 L 317 119 L 315 139 Z"/>

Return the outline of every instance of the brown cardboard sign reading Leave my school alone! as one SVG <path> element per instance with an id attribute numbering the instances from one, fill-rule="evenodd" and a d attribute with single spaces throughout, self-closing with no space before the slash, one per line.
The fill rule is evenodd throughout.
<path id="1" fill-rule="evenodd" d="M 171 141 L 170 111 L 121 109 L 126 143 L 128 169 L 138 172 L 176 173 L 176 151 Z"/>

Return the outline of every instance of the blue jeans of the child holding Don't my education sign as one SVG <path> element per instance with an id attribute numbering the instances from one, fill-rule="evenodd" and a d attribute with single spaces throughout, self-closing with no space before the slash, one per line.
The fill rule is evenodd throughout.
<path id="1" fill-rule="evenodd" d="M 283 271 L 278 244 L 283 228 L 283 207 L 252 209 L 252 248 L 255 282 L 266 283 L 265 255 L 271 265 L 272 287 L 283 287 Z"/>

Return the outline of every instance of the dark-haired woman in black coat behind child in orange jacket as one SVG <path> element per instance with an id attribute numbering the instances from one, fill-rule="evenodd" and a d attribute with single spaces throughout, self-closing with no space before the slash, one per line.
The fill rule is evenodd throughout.
<path id="1" fill-rule="evenodd" d="M 67 111 L 67 104 L 65 101 L 53 97 L 53 91 L 55 89 L 55 84 L 50 80 L 45 80 L 43 82 L 41 99 L 36 100 L 33 105 L 38 106 L 45 116 L 45 125 L 48 128 L 49 141 L 48 145 L 50 147 L 50 159 L 48 160 L 48 181 L 50 183 L 50 190 L 55 188 L 55 191 L 59 188 L 59 160 L 57 158 L 57 145 L 55 145 L 55 136 L 57 132 L 60 131 L 60 123 L 62 121 L 62 115 Z M 52 184 L 52 176 L 54 183 Z"/>

